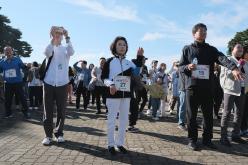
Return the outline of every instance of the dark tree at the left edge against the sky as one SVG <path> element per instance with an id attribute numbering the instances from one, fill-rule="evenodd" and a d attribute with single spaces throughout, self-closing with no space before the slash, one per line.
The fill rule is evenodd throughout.
<path id="1" fill-rule="evenodd" d="M 31 45 L 26 41 L 21 41 L 22 32 L 8 24 L 10 20 L 0 14 L 0 52 L 3 52 L 4 47 L 9 45 L 14 49 L 15 54 L 29 57 L 33 51 Z"/>

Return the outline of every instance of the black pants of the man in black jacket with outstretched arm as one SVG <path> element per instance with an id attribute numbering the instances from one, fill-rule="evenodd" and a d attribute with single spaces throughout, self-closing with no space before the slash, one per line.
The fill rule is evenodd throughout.
<path id="1" fill-rule="evenodd" d="M 196 142 L 198 138 L 197 112 L 201 106 L 203 113 L 203 142 L 210 142 L 213 138 L 213 97 L 211 89 L 193 88 L 186 90 L 186 109 L 188 138 Z"/>

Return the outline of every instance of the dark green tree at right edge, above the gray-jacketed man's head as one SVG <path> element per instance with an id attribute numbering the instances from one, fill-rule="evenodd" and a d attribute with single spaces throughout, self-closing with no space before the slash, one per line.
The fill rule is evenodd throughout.
<path id="1" fill-rule="evenodd" d="M 233 39 L 228 42 L 228 50 L 227 54 L 231 55 L 232 48 L 235 46 L 236 43 L 240 43 L 244 49 L 248 50 L 248 29 L 237 32 Z"/>

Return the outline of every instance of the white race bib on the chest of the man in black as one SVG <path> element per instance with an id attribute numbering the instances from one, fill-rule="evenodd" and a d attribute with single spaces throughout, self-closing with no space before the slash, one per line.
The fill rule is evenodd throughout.
<path id="1" fill-rule="evenodd" d="M 194 79 L 209 79 L 209 65 L 196 65 L 196 69 L 192 71 Z"/>

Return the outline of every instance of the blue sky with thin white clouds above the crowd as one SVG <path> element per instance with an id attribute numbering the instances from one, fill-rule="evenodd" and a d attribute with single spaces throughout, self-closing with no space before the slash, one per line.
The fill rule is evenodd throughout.
<path id="1" fill-rule="evenodd" d="M 148 66 L 155 59 L 169 67 L 180 59 L 184 45 L 193 42 L 196 23 L 207 25 L 206 42 L 223 53 L 248 24 L 246 0 L 0 0 L 0 6 L 0 14 L 33 48 L 24 62 L 42 62 L 51 26 L 69 32 L 75 49 L 70 65 L 79 60 L 98 65 L 100 57 L 112 56 L 109 46 L 114 38 L 124 36 L 127 59 L 143 47 Z"/>

